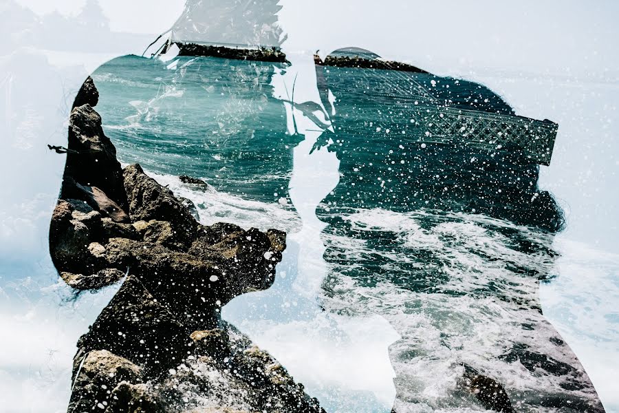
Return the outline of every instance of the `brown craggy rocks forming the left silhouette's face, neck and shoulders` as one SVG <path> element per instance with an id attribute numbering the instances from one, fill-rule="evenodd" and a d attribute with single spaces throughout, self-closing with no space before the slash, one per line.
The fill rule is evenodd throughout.
<path id="1" fill-rule="evenodd" d="M 121 282 L 78 341 L 69 413 L 324 412 L 275 359 L 221 319 L 274 282 L 285 233 L 199 224 L 144 173 L 122 169 L 88 78 L 69 123 L 50 252 L 76 290 Z"/>

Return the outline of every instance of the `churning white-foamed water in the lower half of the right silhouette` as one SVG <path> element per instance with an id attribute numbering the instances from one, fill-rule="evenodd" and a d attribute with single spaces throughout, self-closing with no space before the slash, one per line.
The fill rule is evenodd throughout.
<path id="1" fill-rule="evenodd" d="M 464 388 L 465 365 L 505 386 L 522 412 L 552 411 L 543 399 L 574 401 L 574 411 L 595 400 L 541 313 L 539 279 L 556 271 L 552 236 L 465 213 L 357 209 L 341 218 L 323 233 L 323 306 L 380 315 L 398 332 L 389 348 L 396 411 L 483 411 Z M 532 370 L 536 357 L 549 362 Z"/>

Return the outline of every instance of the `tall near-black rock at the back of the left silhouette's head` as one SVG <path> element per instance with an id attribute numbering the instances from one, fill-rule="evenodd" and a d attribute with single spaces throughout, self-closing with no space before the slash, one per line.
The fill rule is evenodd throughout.
<path id="1" fill-rule="evenodd" d="M 103 133 L 101 117 L 88 104 L 74 108 L 69 119 L 69 153 L 61 191 L 64 199 L 74 198 L 71 180 L 97 187 L 121 209 L 127 205 L 116 148 Z"/>

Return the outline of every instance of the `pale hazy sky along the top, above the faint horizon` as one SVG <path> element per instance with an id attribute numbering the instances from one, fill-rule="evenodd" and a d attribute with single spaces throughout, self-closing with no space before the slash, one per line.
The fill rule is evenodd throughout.
<path id="1" fill-rule="evenodd" d="M 19 0 L 38 14 L 76 14 L 84 0 Z M 619 78 L 616 1 L 281 0 L 294 50 L 356 45 L 425 67 L 496 67 Z M 100 0 L 111 30 L 159 34 L 184 0 Z M 139 19 L 135 17 L 139 16 Z"/>

